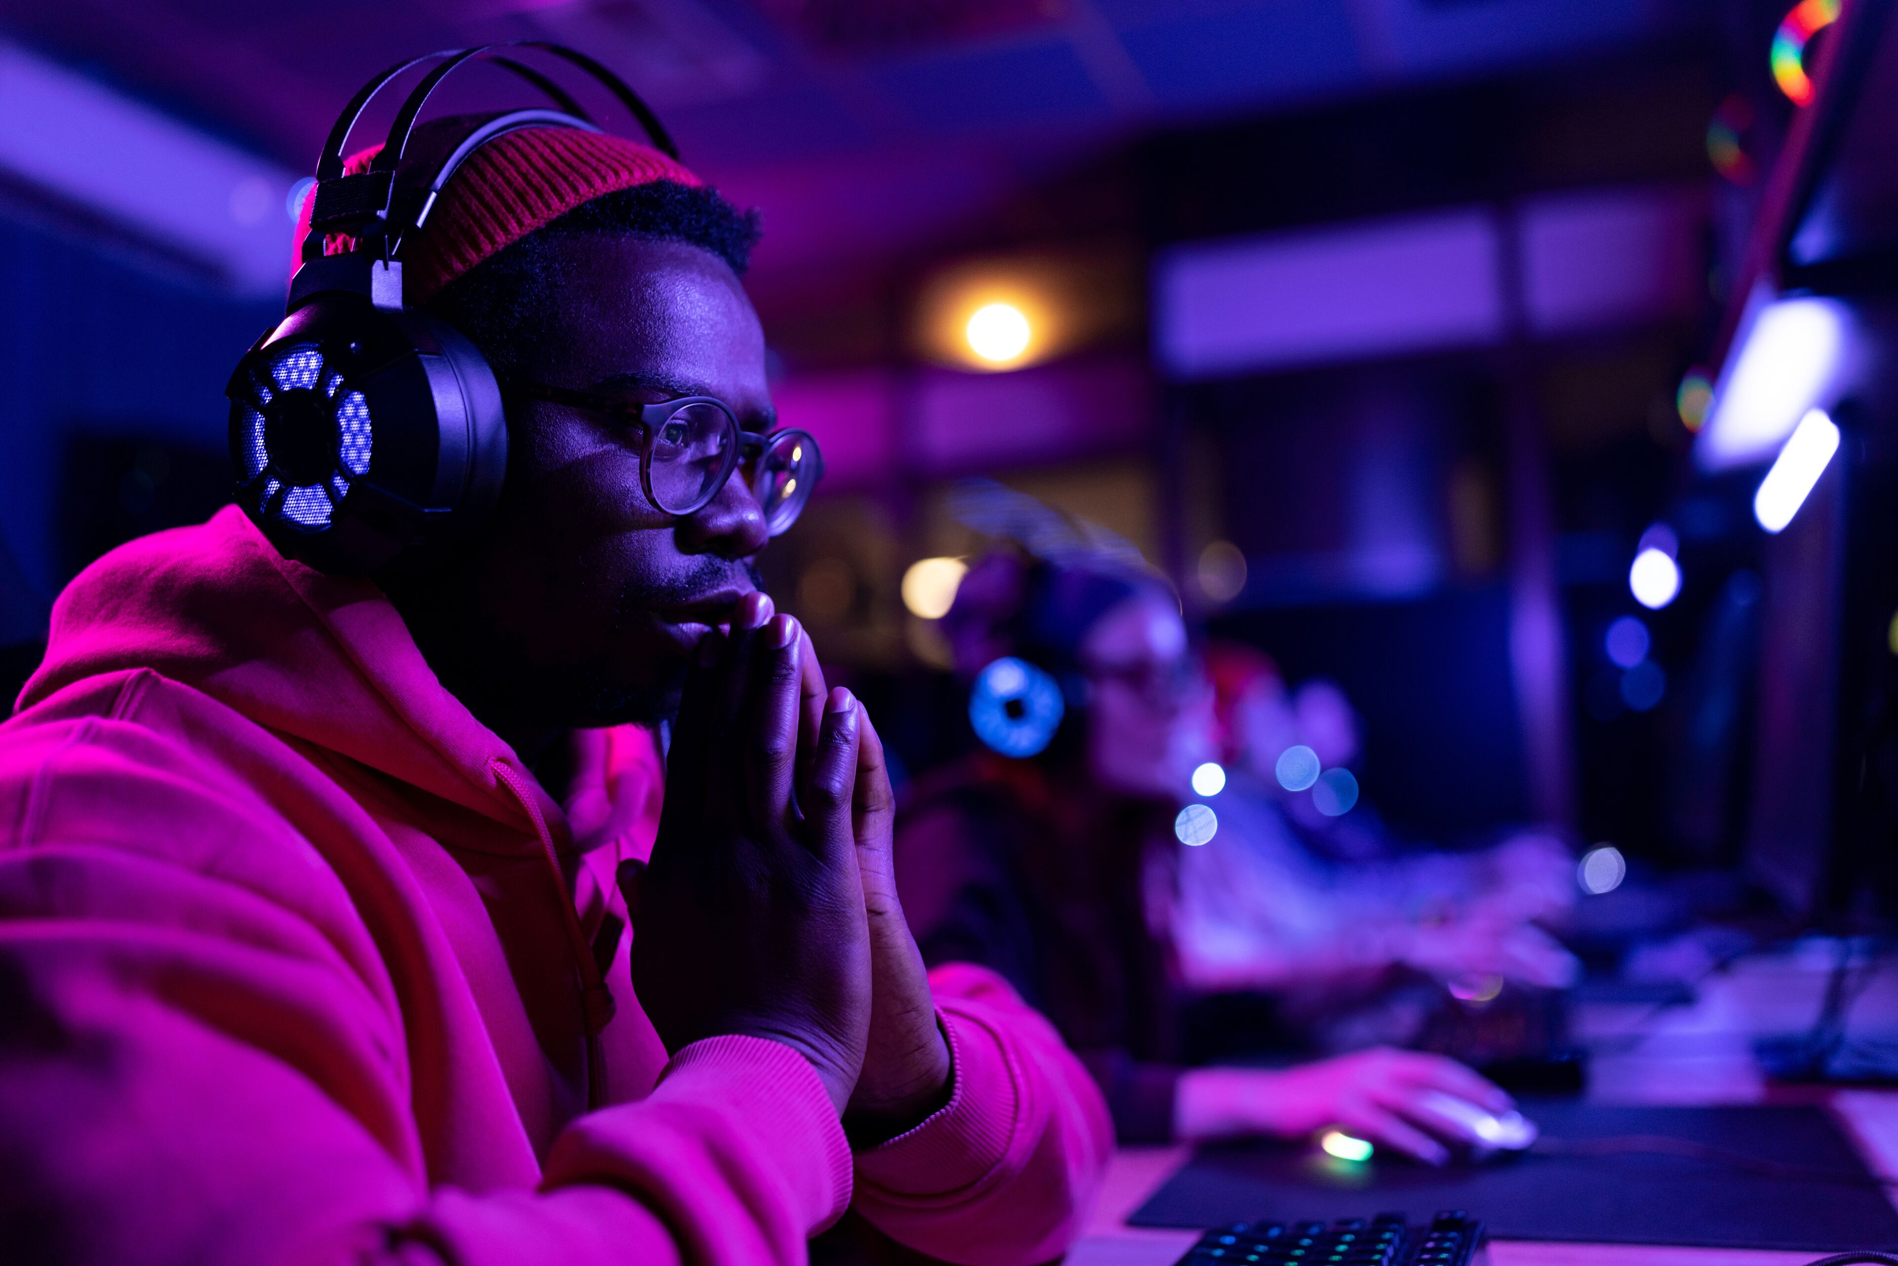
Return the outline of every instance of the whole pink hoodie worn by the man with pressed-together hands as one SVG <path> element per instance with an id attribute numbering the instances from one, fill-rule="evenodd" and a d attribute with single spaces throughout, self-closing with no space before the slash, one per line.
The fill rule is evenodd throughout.
<path id="1" fill-rule="evenodd" d="M 19 708 L 0 1257 L 799 1262 L 854 1200 L 928 1255 L 1027 1264 L 1084 1220 L 1099 1093 L 976 968 L 932 976 L 949 1105 L 871 1150 L 788 1046 L 668 1061 L 630 934 L 600 932 L 659 816 L 643 731 L 588 735 L 556 805 L 376 586 L 233 509 L 76 579 Z"/>

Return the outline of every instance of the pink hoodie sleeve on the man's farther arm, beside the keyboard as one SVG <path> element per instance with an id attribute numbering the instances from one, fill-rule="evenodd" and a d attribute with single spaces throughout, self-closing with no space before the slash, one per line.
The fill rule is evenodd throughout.
<path id="1" fill-rule="evenodd" d="M 955 1063 L 949 1103 L 858 1154 L 856 1207 L 945 1262 L 1053 1260 L 1086 1224 L 1114 1146 L 1101 1091 L 995 972 L 947 964 L 930 987 Z"/>

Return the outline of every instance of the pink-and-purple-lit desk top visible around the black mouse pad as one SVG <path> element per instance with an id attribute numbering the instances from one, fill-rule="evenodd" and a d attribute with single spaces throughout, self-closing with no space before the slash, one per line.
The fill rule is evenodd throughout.
<path id="1" fill-rule="evenodd" d="M 1581 1006 L 1579 1036 L 1594 1048 L 1589 1099 L 1598 1103 L 1822 1101 L 1845 1122 L 1866 1164 L 1898 1177 L 1898 1091 L 1769 1089 L 1750 1042 L 1803 1031 L 1816 1014 L 1830 951 L 1813 947 L 1748 959 L 1701 985 L 1699 1000 L 1655 1015 L 1647 1006 Z M 1898 972 L 1873 981 L 1852 1010 L 1852 1031 L 1898 1031 Z M 1070 1266 L 1171 1266 L 1198 1239 L 1126 1219 L 1186 1160 L 1188 1148 L 1122 1148 Z M 1482 1217 L 1482 1209 L 1471 1209 Z M 1803 1266 L 1820 1253 L 1676 1249 L 1653 1245 L 1498 1241 L 1494 1266 Z"/>

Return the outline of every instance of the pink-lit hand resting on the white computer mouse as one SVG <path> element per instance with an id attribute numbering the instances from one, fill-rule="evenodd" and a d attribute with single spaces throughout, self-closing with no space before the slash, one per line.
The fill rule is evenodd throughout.
<path id="1" fill-rule="evenodd" d="M 1334 1126 L 1441 1165 L 1452 1148 L 1482 1141 L 1465 1124 L 1433 1110 L 1431 1091 L 1486 1112 L 1513 1107 L 1501 1088 L 1454 1059 L 1378 1048 L 1294 1069 L 1190 1069 L 1175 1091 L 1173 1122 L 1175 1133 L 1188 1141 L 1294 1139 Z"/>

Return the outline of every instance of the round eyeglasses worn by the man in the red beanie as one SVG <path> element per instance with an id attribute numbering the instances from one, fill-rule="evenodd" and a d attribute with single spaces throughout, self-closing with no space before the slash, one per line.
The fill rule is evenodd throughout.
<path id="1" fill-rule="evenodd" d="M 731 473 L 744 467 L 746 484 L 765 512 L 765 530 L 782 535 L 824 478 L 824 454 L 809 431 L 746 431 L 731 406 L 710 395 L 638 404 L 518 378 L 501 380 L 501 389 L 613 418 L 638 431 L 640 482 L 666 514 L 697 514 L 712 505 Z"/>

